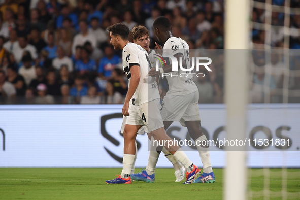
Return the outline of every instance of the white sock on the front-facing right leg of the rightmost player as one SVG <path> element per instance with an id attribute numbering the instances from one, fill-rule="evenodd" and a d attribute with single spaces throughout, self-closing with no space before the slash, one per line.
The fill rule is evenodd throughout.
<path id="1" fill-rule="evenodd" d="M 202 164 L 203 164 L 203 172 L 211 173 L 213 171 L 213 168 L 212 168 L 212 163 L 211 163 L 211 157 L 209 154 L 209 147 L 207 147 L 207 148 L 201 147 L 201 141 L 203 141 L 203 140 L 207 140 L 205 135 L 197 138 L 195 140 L 195 144 L 196 144 L 196 146 L 197 146 L 197 144 L 199 144 L 197 146 L 197 150 L 199 152 L 199 156 L 200 156 Z M 197 142 L 197 141 L 199 141 L 199 142 Z M 205 145 L 203 145 L 203 146 L 205 146 Z"/>

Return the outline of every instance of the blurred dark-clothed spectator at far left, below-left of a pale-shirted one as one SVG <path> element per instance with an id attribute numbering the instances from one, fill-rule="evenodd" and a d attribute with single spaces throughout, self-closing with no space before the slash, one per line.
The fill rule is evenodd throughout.
<path id="1" fill-rule="evenodd" d="M 17 96 L 24 96 L 26 91 L 25 79 L 18 74 L 18 69 L 11 64 L 7 68 L 7 81 L 12 83 L 17 91 Z"/>

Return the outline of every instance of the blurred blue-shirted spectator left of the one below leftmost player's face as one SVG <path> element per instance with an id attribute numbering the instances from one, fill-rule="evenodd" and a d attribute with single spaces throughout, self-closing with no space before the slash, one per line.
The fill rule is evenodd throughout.
<path id="1" fill-rule="evenodd" d="M 83 47 L 81 49 L 81 59 L 75 62 L 75 70 L 80 72 L 80 74 L 85 74 L 86 72 L 92 72 L 97 69 L 96 62 L 90 58 L 91 52 Z"/>

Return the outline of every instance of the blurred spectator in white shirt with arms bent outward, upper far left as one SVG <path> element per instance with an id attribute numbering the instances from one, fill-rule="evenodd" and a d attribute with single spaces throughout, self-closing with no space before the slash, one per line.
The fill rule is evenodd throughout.
<path id="1" fill-rule="evenodd" d="M 21 35 L 18 37 L 18 45 L 13 51 L 17 63 L 21 61 L 24 51 L 30 52 L 30 57 L 32 56 L 31 59 L 35 60 L 38 58 L 36 47 L 28 44 L 27 37 L 25 35 Z"/>

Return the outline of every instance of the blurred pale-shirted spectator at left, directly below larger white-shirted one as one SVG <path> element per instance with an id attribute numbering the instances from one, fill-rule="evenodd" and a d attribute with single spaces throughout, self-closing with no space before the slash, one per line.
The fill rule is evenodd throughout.
<path id="1" fill-rule="evenodd" d="M 30 53 L 22 57 L 22 63 L 23 65 L 19 69 L 19 74 L 24 77 L 26 85 L 29 85 L 32 80 L 37 78 L 35 65 L 32 65 Z"/>

